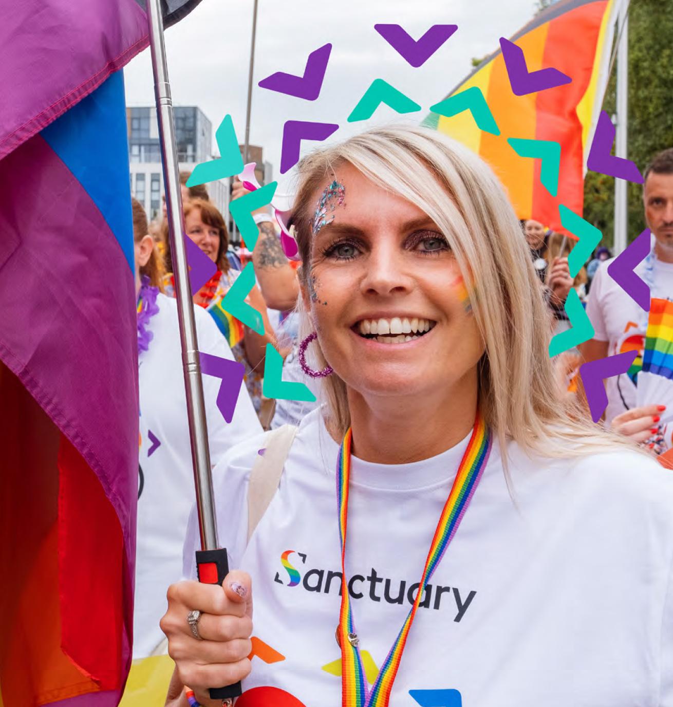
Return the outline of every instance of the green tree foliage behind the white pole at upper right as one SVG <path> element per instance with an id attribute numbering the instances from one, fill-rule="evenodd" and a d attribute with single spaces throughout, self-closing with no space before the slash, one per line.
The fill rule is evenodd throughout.
<path id="1" fill-rule="evenodd" d="M 628 158 L 641 172 L 652 156 L 673 146 L 673 0 L 631 0 L 628 15 Z M 615 111 L 616 71 L 603 109 Z M 614 178 L 587 172 L 584 218 L 614 241 Z M 643 187 L 628 185 L 628 238 L 645 228 Z"/>

